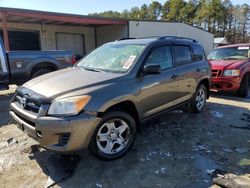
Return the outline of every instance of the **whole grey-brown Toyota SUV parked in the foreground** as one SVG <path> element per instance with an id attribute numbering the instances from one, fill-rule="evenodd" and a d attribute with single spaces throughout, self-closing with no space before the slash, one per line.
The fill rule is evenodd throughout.
<path id="1" fill-rule="evenodd" d="M 18 87 L 10 116 L 43 147 L 89 148 L 100 159 L 123 156 L 140 122 L 189 104 L 202 112 L 210 66 L 203 48 L 180 37 L 107 43 L 74 67 Z"/>

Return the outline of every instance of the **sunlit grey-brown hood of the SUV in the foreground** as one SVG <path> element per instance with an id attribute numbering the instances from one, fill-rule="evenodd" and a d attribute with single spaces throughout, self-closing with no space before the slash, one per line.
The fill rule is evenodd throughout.
<path id="1" fill-rule="evenodd" d="M 22 88 L 47 97 L 57 98 L 81 90 L 87 94 L 95 88 L 114 82 L 122 74 L 87 71 L 80 68 L 67 68 L 39 76 L 26 82 Z"/>

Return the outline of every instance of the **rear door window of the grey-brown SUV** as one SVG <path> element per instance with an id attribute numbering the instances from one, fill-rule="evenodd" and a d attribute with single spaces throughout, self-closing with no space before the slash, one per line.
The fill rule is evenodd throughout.
<path id="1" fill-rule="evenodd" d="M 189 46 L 174 46 L 174 57 L 176 66 L 192 62 L 192 55 Z"/>

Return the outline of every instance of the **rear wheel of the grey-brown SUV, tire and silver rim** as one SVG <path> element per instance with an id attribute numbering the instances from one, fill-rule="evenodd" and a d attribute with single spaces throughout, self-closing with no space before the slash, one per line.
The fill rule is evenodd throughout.
<path id="1" fill-rule="evenodd" d="M 207 88 L 203 84 L 200 84 L 190 102 L 190 111 L 201 113 L 204 110 L 206 107 L 207 92 Z"/>

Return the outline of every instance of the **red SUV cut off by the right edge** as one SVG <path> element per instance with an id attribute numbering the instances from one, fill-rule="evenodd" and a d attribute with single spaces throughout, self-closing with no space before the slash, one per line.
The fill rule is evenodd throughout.
<path id="1" fill-rule="evenodd" d="M 221 46 L 208 60 L 212 66 L 212 89 L 248 96 L 250 87 L 250 43 Z"/>

